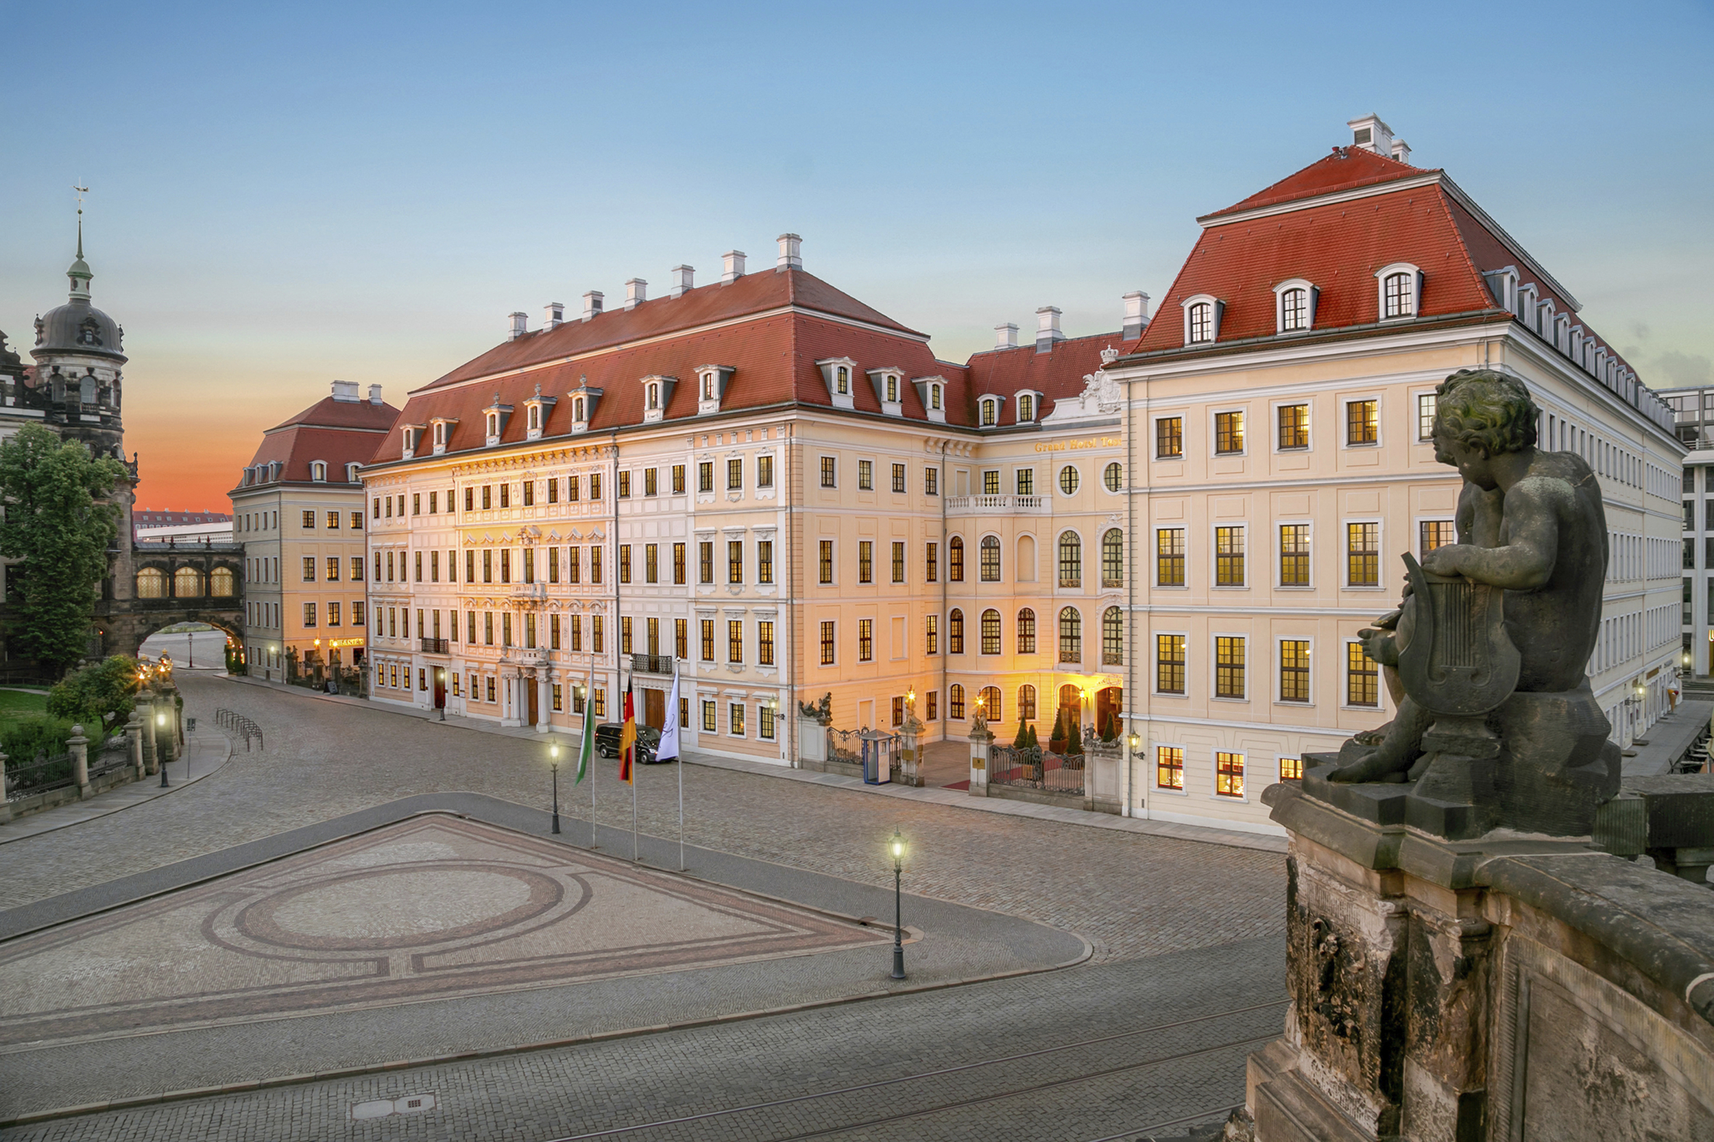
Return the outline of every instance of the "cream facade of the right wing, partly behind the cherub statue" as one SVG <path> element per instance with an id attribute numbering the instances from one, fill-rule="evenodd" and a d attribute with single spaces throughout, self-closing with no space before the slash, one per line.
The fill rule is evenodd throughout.
<path id="1" fill-rule="evenodd" d="M 1352 648 L 1357 631 L 1399 600 L 1399 552 L 1421 556 L 1450 537 L 1436 528 L 1450 528 L 1460 484 L 1435 461 L 1426 437 L 1435 386 L 1459 369 L 1520 377 L 1543 410 L 1541 446 L 1577 451 L 1594 468 L 1611 559 L 1591 686 L 1620 744 L 1628 746 L 1668 708 L 1680 648 L 1683 446 L 1645 389 L 1640 406 L 1627 403 L 1549 341 L 1505 319 L 1316 346 L 1159 357 L 1159 364 L 1130 358 L 1111 369 L 1126 391 L 1126 454 L 1135 473 L 1130 562 L 1142 571 L 1126 655 L 1135 696 L 1130 725 L 1142 739 L 1131 813 L 1272 830 L 1258 796 L 1280 780 L 1282 760 L 1289 773 L 1303 753 L 1333 751 L 1352 732 L 1393 715 L 1387 686 L 1363 677 L 1373 664 L 1352 679 L 1361 658 Z M 1369 420 L 1364 401 L 1373 401 L 1375 439 L 1354 442 L 1352 406 Z M 1306 439 L 1282 448 L 1282 410 L 1299 406 Z M 1243 417 L 1243 446 L 1222 453 L 1217 418 L 1231 413 Z M 1183 425 L 1178 456 L 1159 448 L 1160 422 L 1172 418 Z M 1357 437 L 1364 436 L 1359 429 Z M 1289 535 L 1294 556 L 1306 547 L 1303 561 L 1291 561 L 1291 574 L 1282 552 L 1287 526 L 1306 528 Z M 1243 535 L 1241 581 L 1231 574 L 1231 556 L 1220 581 L 1219 528 L 1227 528 L 1227 540 L 1232 530 Z M 1159 573 L 1160 545 L 1171 545 L 1174 532 L 1183 535 L 1183 586 L 1162 585 Z M 1299 566 L 1304 585 L 1296 585 L 1304 578 L 1296 574 Z M 1162 638 L 1183 638 L 1181 688 L 1172 669 L 1162 676 L 1162 652 L 1167 658 L 1176 652 Z M 1226 686 L 1222 638 L 1241 640 L 1224 643 Z M 1234 669 L 1236 646 L 1243 665 Z M 1639 682 L 1640 701 L 1633 698 Z M 1236 782 L 1234 761 L 1241 766 Z M 1181 787 L 1171 787 L 1178 766 Z"/>

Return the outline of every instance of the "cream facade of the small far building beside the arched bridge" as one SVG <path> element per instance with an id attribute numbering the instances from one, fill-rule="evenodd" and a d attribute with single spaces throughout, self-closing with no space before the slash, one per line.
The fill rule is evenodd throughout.
<path id="1" fill-rule="evenodd" d="M 286 652 L 305 667 L 351 667 L 365 646 L 363 487 L 252 484 L 230 492 L 243 544 L 245 662 L 283 681 Z"/>

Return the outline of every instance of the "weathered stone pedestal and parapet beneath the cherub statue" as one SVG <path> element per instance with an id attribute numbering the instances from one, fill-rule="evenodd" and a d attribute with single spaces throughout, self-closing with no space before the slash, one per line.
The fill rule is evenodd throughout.
<path id="1" fill-rule="evenodd" d="M 1714 1139 L 1714 893 L 1344 790 L 1356 813 L 1309 780 L 1263 794 L 1291 833 L 1291 1008 L 1250 1056 L 1256 1142 Z"/>

